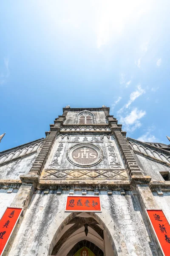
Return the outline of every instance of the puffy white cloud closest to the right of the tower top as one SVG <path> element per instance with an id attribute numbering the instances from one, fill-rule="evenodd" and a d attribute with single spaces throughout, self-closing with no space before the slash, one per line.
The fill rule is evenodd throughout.
<path id="1" fill-rule="evenodd" d="M 138 110 L 138 108 L 134 108 L 130 113 L 126 116 L 119 116 L 119 121 L 122 125 L 124 125 L 125 131 L 133 132 L 136 128 L 141 127 L 141 122 L 139 119 L 146 115 L 146 111 Z"/>

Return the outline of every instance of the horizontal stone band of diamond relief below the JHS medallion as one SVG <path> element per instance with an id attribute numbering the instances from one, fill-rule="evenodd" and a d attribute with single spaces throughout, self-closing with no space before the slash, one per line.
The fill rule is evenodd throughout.
<path id="1" fill-rule="evenodd" d="M 45 170 L 42 179 L 128 179 L 125 169 L 103 169 L 103 170 Z"/>

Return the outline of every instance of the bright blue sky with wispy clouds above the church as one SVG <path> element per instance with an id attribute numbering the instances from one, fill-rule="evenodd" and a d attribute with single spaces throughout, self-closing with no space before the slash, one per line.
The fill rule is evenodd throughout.
<path id="1" fill-rule="evenodd" d="M 168 0 L 0 3 L 0 151 L 41 137 L 62 107 L 111 108 L 127 136 L 168 144 Z"/>

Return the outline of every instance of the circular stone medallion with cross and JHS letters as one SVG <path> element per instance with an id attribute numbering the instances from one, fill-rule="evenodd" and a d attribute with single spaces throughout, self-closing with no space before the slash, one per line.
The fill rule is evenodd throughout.
<path id="1" fill-rule="evenodd" d="M 68 160 L 77 166 L 94 166 L 102 160 L 102 150 L 90 143 L 81 143 L 68 150 Z"/>

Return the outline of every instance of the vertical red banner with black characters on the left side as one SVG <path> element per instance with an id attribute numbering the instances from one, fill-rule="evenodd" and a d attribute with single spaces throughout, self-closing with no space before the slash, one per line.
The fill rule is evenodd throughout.
<path id="1" fill-rule="evenodd" d="M 12 233 L 22 208 L 8 207 L 0 219 L 0 255 Z"/>

